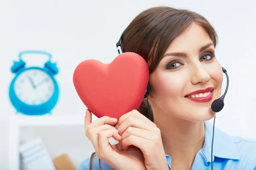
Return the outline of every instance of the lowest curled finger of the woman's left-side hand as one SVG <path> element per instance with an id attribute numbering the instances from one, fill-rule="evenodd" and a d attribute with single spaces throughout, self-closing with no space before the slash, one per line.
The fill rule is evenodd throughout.
<path id="1" fill-rule="evenodd" d="M 116 130 L 104 130 L 99 133 L 99 153 L 101 157 L 109 156 L 113 149 L 109 144 L 108 139 L 113 137 L 116 141 L 121 139 L 121 136 L 116 132 Z"/>

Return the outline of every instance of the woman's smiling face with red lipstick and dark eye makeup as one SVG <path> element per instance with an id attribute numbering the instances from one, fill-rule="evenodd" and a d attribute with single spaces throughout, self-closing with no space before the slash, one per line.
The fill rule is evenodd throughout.
<path id="1" fill-rule="evenodd" d="M 223 72 L 204 28 L 193 23 L 164 56 L 150 75 L 153 110 L 189 121 L 212 119 L 211 104 L 221 96 Z"/>

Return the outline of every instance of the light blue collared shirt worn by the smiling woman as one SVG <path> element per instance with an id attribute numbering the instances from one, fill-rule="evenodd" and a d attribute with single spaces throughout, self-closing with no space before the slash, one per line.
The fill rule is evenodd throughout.
<path id="1" fill-rule="evenodd" d="M 211 170 L 212 127 L 205 122 L 204 146 L 195 156 L 191 170 Z M 171 167 L 171 157 L 166 155 Z M 213 170 L 256 170 L 256 140 L 230 136 L 217 127 L 214 128 Z M 172 167 L 171 167 L 172 168 Z M 90 169 L 90 157 L 81 162 L 79 170 Z M 101 160 L 102 170 L 113 170 Z M 93 156 L 92 170 L 99 170 L 99 159 Z"/>

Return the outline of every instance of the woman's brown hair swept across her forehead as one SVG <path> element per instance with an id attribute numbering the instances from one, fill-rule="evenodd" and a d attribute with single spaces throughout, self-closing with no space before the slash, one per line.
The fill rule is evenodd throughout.
<path id="1" fill-rule="evenodd" d="M 193 22 L 200 24 L 207 31 L 216 47 L 217 33 L 206 18 L 186 9 L 158 6 L 146 9 L 132 20 L 122 36 L 122 51 L 130 51 L 142 56 L 148 62 L 149 73 L 152 73 L 171 42 Z M 151 121 L 154 121 L 151 108 L 149 109 Z M 138 111 L 148 117 L 145 99 Z M 90 170 L 94 154 L 91 156 Z"/>

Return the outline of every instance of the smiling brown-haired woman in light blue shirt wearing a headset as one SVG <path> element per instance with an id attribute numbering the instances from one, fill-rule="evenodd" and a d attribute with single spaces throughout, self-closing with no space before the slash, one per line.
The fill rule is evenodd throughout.
<path id="1" fill-rule="evenodd" d="M 192 11 L 154 7 L 135 17 L 121 48 L 147 61 L 150 94 L 138 111 L 119 120 L 104 116 L 91 122 L 86 111 L 85 134 L 96 154 L 79 170 L 256 169 L 255 140 L 213 132 L 207 122 L 216 114 L 211 105 L 223 82 L 217 40 L 207 19 Z M 109 144 L 110 137 L 119 144 Z"/>

